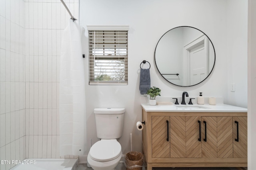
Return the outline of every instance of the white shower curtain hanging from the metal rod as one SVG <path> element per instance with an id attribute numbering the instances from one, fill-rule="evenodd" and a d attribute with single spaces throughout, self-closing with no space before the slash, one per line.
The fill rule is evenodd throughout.
<path id="1" fill-rule="evenodd" d="M 60 56 L 60 156 L 84 154 L 85 93 L 82 27 L 70 20 Z"/>

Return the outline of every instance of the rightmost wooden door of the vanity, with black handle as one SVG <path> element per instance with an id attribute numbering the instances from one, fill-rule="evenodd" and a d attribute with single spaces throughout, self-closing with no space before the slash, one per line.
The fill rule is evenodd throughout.
<path id="1" fill-rule="evenodd" d="M 238 142 L 235 141 L 237 138 Z M 247 158 L 247 117 L 233 117 L 233 157 Z"/>

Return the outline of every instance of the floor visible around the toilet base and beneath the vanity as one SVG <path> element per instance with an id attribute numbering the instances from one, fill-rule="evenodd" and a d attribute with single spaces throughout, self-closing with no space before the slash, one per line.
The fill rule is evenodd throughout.
<path id="1" fill-rule="evenodd" d="M 79 164 L 76 170 L 93 170 L 92 168 L 88 168 L 87 164 Z M 116 170 L 126 170 L 126 167 L 123 163 L 118 164 L 116 166 Z M 142 168 L 145 170 L 145 167 Z M 236 168 L 236 167 L 216 167 L 216 168 L 153 168 L 153 170 L 247 170 L 247 168 Z"/>

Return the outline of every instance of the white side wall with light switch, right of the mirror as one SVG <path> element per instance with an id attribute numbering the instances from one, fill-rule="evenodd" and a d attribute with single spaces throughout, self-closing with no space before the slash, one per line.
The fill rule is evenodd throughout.
<path id="1" fill-rule="evenodd" d="M 248 2 L 227 1 L 227 104 L 247 107 L 247 23 Z M 242 69 L 241 69 L 242 68 Z M 231 83 L 236 91 L 231 92 Z M 242 97 L 243 96 L 243 97 Z"/>

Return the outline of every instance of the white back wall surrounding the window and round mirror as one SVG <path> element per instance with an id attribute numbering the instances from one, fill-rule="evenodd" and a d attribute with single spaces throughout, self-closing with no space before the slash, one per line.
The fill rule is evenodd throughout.
<path id="1" fill-rule="evenodd" d="M 237 2 L 237 1 L 236 1 Z M 207 97 L 224 97 L 228 101 L 228 31 L 235 28 L 227 24 L 231 18 L 227 14 L 231 2 L 223 0 L 82 0 L 80 1 L 80 24 L 86 25 L 129 25 L 128 31 L 128 85 L 89 86 L 86 83 L 87 143 L 98 141 L 95 130 L 93 109 L 95 107 L 125 107 L 124 133 L 120 138 L 123 153 L 130 151 L 130 133 L 133 134 L 133 150 L 142 151 L 142 133 L 136 130 L 136 121 L 142 121 L 140 106 L 139 71 L 143 60 L 150 62 L 151 86 L 162 89 L 162 96 L 181 96 L 187 91 L 189 96 L 203 92 Z M 235 2 L 234 2 L 235 3 Z M 239 5 L 239 2 L 237 2 Z M 236 3 L 235 3 L 236 4 Z M 246 4 L 245 4 L 246 5 Z M 246 10 L 236 11 L 246 15 Z M 245 13 L 245 14 L 244 14 Z M 228 18 L 229 16 L 229 18 Z M 236 18 L 246 29 L 246 18 Z M 240 22 L 241 20 L 241 22 Z M 211 39 L 216 51 L 216 63 L 212 74 L 201 84 L 192 87 L 178 87 L 170 84 L 156 71 L 154 50 L 160 37 L 177 26 L 192 26 L 202 30 Z M 229 29 L 229 30 L 228 30 Z M 230 30 L 231 29 L 231 30 Z M 241 31 L 244 31 L 241 29 Z M 85 36 L 88 37 L 87 31 Z M 246 34 L 246 33 L 245 33 Z M 238 37 L 243 41 L 246 35 Z M 244 49 L 245 48 L 245 49 Z M 88 66 L 88 43 L 85 42 L 84 63 Z M 242 55 L 246 56 L 246 43 L 242 45 Z M 246 59 L 245 59 L 246 60 Z M 246 63 L 246 61 L 243 61 Z M 237 63 L 236 63 L 237 64 Z M 247 67 L 239 68 L 246 72 Z M 231 70 L 232 72 L 232 70 Z M 88 82 L 88 69 L 85 70 Z M 230 73 L 229 73 L 230 74 Z M 237 89 L 244 83 L 236 81 Z M 245 88 L 245 91 L 246 88 Z M 246 101 L 247 93 L 240 93 L 239 100 Z M 246 106 L 243 104 L 242 106 Z M 88 146 L 88 150 L 89 150 Z M 88 152 L 87 150 L 87 152 Z"/>

